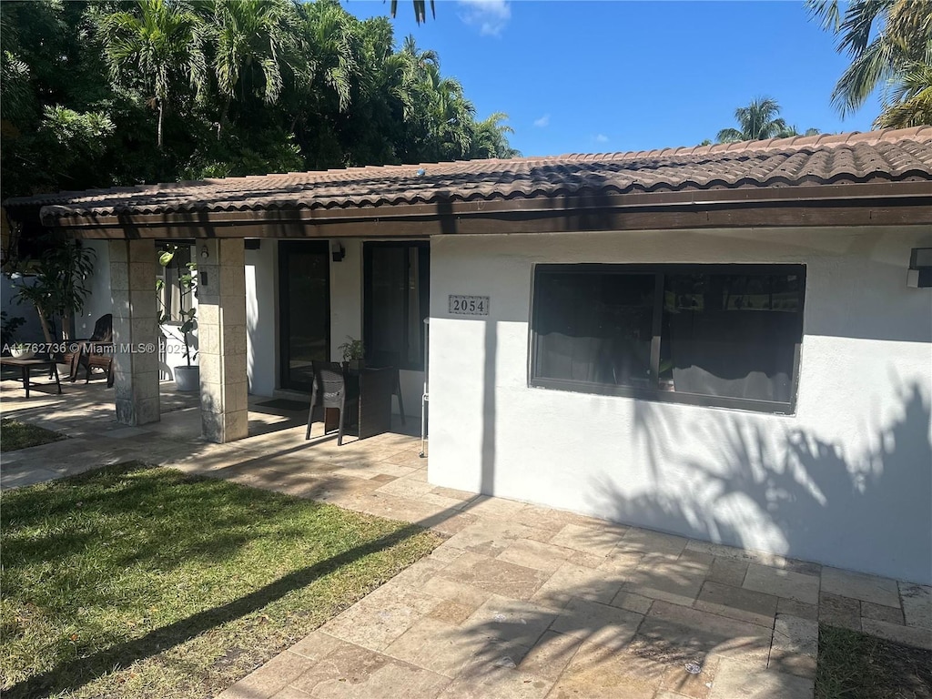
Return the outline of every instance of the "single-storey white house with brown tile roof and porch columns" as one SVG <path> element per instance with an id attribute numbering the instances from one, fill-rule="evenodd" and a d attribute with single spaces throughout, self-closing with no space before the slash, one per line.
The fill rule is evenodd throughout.
<path id="1" fill-rule="evenodd" d="M 117 342 L 191 243 L 213 440 L 362 336 L 409 411 L 429 364 L 436 485 L 932 583 L 930 127 L 6 207 L 98 248 Z M 157 382 L 122 351 L 117 416 Z"/>

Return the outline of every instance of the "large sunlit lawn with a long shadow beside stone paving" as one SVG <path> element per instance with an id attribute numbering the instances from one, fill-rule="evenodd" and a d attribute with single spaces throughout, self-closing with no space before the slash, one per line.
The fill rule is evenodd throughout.
<path id="1" fill-rule="evenodd" d="M 440 542 L 139 464 L 4 494 L 7 699 L 211 697 Z"/>

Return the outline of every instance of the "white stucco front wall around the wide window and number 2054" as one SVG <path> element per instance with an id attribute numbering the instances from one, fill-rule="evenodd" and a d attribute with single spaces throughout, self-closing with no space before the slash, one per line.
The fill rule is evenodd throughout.
<path id="1" fill-rule="evenodd" d="M 432 239 L 433 484 L 932 582 L 932 230 Z M 805 264 L 796 413 L 528 387 L 535 263 Z M 490 296 L 485 319 L 447 295 Z"/>

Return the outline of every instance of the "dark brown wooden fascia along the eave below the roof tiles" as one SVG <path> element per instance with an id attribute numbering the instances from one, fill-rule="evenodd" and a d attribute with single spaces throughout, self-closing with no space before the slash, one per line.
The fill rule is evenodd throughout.
<path id="1" fill-rule="evenodd" d="M 752 223 L 752 212 L 764 219 L 766 212 L 781 210 L 779 221 L 792 221 L 792 211 L 800 212 L 796 224 L 777 225 L 821 226 L 822 216 L 805 215 L 805 211 L 850 210 L 860 212 L 863 224 L 877 225 L 879 212 L 871 209 L 895 206 L 898 223 L 932 224 L 932 207 L 929 202 L 930 185 L 927 180 L 873 183 L 841 183 L 832 185 L 797 185 L 771 187 L 738 187 L 718 189 L 685 189 L 679 191 L 567 194 L 541 194 L 512 199 L 441 200 L 430 203 L 396 203 L 378 206 L 345 206 L 311 208 L 293 205 L 276 208 L 242 209 L 234 211 L 177 211 L 177 212 L 117 212 L 74 213 L 62 206 L 43 207 L 40 215 L 45 226 L 57 227 L 81 237 L 95 238 L 156 238 L 165 235 L 195 237 L 326 237 L 334 235 L 373 235 L 364 232 L 365 226 L 383 227 L 380 224 L 405 222 L 404 235 L 434 235 L 463 232 L 459 222 L 486 220 L 487 226 L 470 226 L 477 232 L 514 232 L 514 221 L 520 219 L 555 220 L 591 218 L 598 213 L 613 213 L 609 218 L 631 216 L 637 212 L 653 212 L 656 227 L 693 227 L 696 217 L 662 215 L 682 213 L 709 213 L 711 221 L 720 221 L 723 212 L 744 212 L 735 219 Z M 715 214 L 715 215 L 712 215 Z M 857 216 L 855 217 L 857 218 Z M 844 217 L 851 225 L 851 215 Z M 692 220 L 693 223 L 688 223 Z M 494 222 L 500 225 L 493 225 Z M 511 225 L 503 225 L 510 221 Z M 457 226 L 449 226 L 451 222 Z M 841 223 L 841 220 L 839 221 Z M 422 232 L 418 233 L 418 224 Z M 353 232 L 336 233 L 336 228 L 353 229 Z M 550 226 L 546 226 L 550 227 Z M 319 230 L 315 230 L 319 229 Z M 481 230 L 479 230 L 481 229 Z M 571 229 L 571 228 L 568 228 Z M 356 231 L 359 232 L 356 232 Z M 122 235 L 118 232 L 122 231 Z M 382 235 L 382 233 L 379 233 Z"/>

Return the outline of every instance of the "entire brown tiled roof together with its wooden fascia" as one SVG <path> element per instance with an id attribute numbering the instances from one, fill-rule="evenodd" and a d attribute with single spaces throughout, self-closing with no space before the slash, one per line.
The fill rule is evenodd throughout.
<path id="1" fill-rule="evenodd" d="M 7 199 L 86 238 L 932 223 L 932 127 L 292 172 Z"/>

